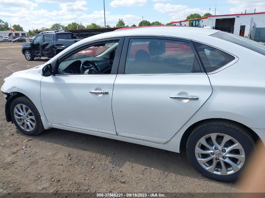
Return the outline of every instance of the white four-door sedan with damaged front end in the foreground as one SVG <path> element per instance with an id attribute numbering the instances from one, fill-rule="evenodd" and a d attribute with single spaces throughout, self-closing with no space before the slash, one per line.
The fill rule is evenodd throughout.
<path id="1" fill-rule="evenodd" d="M 6 118 L 185 151 L 205 177 L 236 180 L 265 142 L 265 47 L 214 29 L 142 27 L 79 41 L 5 79 Z"/>

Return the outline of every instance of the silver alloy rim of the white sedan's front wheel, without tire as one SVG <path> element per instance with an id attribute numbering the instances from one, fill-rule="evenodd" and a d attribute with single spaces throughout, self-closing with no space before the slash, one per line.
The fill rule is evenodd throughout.
<path id="1" fill-rule="evenodd" d="M 17 104 L 14 108 L 14 117 L 21 129 L 32 131 L 35 128 L 35 117 L 26 105 Z"/>

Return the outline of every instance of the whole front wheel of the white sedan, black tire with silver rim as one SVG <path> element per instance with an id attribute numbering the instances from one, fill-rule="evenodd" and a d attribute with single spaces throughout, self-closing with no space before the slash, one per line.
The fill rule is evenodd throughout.
<path id="1" fill-rule="evenodd" d="M 32 101 L 25 96 L 16 98 L 12 101 L 10 105 L 10 114 L 13 123 L 25 135 L 38 135 L 45 130 L 37 108 Z"/>

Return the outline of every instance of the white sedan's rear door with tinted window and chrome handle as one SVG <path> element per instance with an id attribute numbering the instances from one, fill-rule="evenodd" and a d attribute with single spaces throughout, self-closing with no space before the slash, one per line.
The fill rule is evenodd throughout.
<path id="1" fill-rule="evenodd" d="M 125 38 L 112 98 L 117 134 L 169 141 L 212 93 L 198 60 L 188 40 Z"/>

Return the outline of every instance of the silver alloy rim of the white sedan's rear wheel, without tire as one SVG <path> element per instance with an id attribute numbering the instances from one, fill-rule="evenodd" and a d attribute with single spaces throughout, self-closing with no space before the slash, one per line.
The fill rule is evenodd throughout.
<path id="1" fill-rule="evenodd" d="M 242 145 L 229 135 L 212 133 L 203 136 L 196 144 L 195 155 L 199 164 L 217 175 L 230 175 L 245 163 Z"/>

